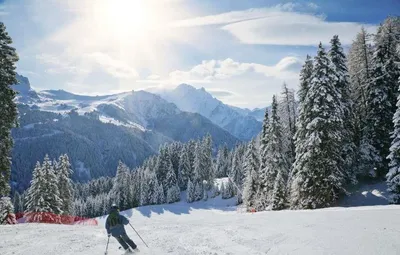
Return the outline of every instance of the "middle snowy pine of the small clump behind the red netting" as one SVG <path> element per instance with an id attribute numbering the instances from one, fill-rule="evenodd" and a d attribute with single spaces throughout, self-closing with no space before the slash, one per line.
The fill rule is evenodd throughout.
<path id="1" fill-rule="evenodd" d="M 58 179 L 54 171 L 54 165 L 47 154 L 42 163 L 42 171 L 45 180 L 45 199 L 50 206 L 49 212 L 59 215 L 62 213 L 62 200 L 58 189 Z"/>

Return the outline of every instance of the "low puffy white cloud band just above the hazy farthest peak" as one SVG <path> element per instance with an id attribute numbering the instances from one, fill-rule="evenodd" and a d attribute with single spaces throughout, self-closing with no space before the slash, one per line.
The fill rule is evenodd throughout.
<path id="1" fill-rule="evenodd" d="M 176 70 L 169 74 L 173 81 L 189 80 L 224 80 L 234 76 L 258 73 L 266 77 L 282 77 L 297 75 L 302 61 L 297 57 L 285 57 L 274 66 L 256 63 L 236 62 L 231 58 L 225 60 L 204 60 L 188 71 Z"/>

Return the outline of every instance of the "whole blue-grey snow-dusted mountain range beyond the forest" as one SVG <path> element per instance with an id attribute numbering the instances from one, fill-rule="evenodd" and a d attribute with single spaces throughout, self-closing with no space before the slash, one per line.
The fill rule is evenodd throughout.
<path id="1" fill-rule="evenodd" d="M 113 176 L 119 160 L 139 166 L 164 143 L 209 133 L 214 149 L 224 144 L 232 148 L 261 130 L 256 111 L 225 105 L 204 89 L 186 84 L 159 94 L 84 96 L 35 91 L 26 77 L 17 78 L 13 88 L 18 91 L 20 126 L 12 132 L 11 179 L 20 190 L 29 186 L 34 165 L 46 154 L 56 158 L 67 153 L 73 178 L 87 181 Z"/>

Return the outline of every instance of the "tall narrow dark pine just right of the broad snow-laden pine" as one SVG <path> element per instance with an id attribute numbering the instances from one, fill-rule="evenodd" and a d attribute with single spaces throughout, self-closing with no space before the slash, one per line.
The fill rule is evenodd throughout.
<path id="1" fill-rule="evenodd" d="M 333 36 L 331 49 L 328 53 L 336 76 L 336 88 L 341 93 L 341 105 L 343 109 L 343 145 L 342 157 L 344 159 L 344 174 L 348 183 L 356 183 L 356 145 L 354 143 L 354 112 L 353 101 L 350 94 L 349 74 L 346 66 L 346 56 L 343 52 L 339 36 Z"/>

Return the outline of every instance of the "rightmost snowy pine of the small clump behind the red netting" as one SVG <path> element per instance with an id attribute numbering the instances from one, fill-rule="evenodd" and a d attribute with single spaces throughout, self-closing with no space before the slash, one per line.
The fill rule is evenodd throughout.
<path id="1" fill-rule="evenodd" d="M 73 203 L 73 186 L 71 175 L 73 171 L 69 163 L 68 155 L 61 155 L 57 163 L 57 179 L 60 191 L 60 199 L 62 200 L 61 210 L 65 215 L 71 215 Z"/>

